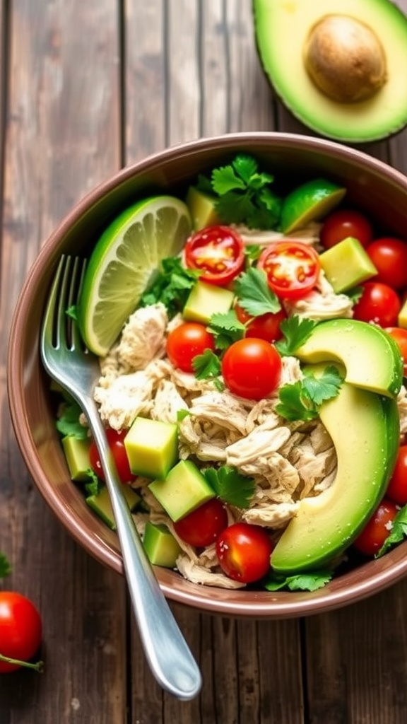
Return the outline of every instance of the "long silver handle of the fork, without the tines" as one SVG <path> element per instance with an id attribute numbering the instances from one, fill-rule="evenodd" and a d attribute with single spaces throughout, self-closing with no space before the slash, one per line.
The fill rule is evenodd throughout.
<path id="1" fill-rule="evenodd" d="M 123 565 L 140 639 L 151 671 L 163 689 L 178 699 L 193 699 L 201 689 L 201 673 L 182 635 L 135 528 L 122 492 L 112 452 L 93 400 L 87 400 L 88 423 L 93 432 L 106 487 L 112 502 Z"/>

